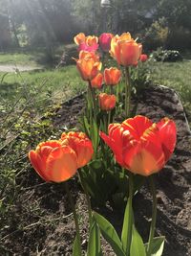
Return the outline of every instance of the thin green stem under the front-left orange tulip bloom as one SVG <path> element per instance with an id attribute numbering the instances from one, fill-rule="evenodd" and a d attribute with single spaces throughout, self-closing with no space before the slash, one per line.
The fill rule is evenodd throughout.
<path id="1" fill-rule="evenodd" d="M 66 190 L 66 193 L 67 193 L 67 196 L 69 198 L 69 201 L 70 201 L 70 204 L 71 204 L 71 208 L 72 208 L 72 211 L 73 211 L 73 215 L 74 215 L 74 225 L 75 225 L 75 231 L 76 231 L 76 239 L 77 239 L 77 244 L 78 244 L 78 249 L 77 251 L 80 253 L 79 256 L 82 255 L 82 250 L 81 250 L 81 240 L 80 240 L 80 234 L 79 234 L 79 223 L 78 223 L 78 218 L 77 218 L 77 214 L 76 214 L 76 210 L 75 210 L 75 206 L 74 206 L 74 200 L 71 196 L 71 192 L 70 192 L 70 189 L 69 189 L 69 185 L 67 182 L 64 182 L 65 184 L 65 190 Z"/>

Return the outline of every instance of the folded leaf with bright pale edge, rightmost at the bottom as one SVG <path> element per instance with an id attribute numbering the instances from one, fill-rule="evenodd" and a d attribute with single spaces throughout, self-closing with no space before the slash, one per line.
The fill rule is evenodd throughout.
<path id="1" fill-rule="evenodd" d="M 161 256 L 164 248 L 165 237 L 156 237 L 151 244 L 151 256 Z M 144 244 L 147 250 L 148 243 Z"/>

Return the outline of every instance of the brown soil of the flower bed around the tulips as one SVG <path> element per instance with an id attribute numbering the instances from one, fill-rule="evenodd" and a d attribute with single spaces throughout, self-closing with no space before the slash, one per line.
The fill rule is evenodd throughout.
<path id="1" fill-rule="evenodd" d="M 191 255 L 191 133 L 177 94 L 163 86 L 150 86 L 133 100 L 138 114 L 153 121 L 167 116 L 178 128 L 176 150 L 165 168 L 156 175 L 158 190 L 158 220 L 156 236 L 166 239 L 163 256 Z M 64 103 L 54 116 L 53 123 L 61 131 L 74 128 L 84 107 L 83 95 Z M 82 244 L 87 246 L 87 208 L 85 197 L 76 178 L 70 180 L 76 201 Z M 138 231 L 147 240 L 151 218 L 151 196 L 145 184 L 134 198 Z M 111 221 L 120 232 L 123 209 L 96 209 Z M 16 206 L 11 210 L 10 223 L 3 230 L 0 255 L 72 255 L 74 221 L 63 184 L 46 184 L 30 172 L 22 181 Z M 104 255 L 115 255 L 104 243 Z"/>

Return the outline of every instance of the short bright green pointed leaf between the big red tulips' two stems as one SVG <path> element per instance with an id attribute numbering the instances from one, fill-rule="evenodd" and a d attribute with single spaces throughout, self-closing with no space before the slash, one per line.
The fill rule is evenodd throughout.
<path id="1" fill-rule="evenodd" d="M 132 228 L 130 256 L 146 256 L 145 246 L 134 224 Z"/>

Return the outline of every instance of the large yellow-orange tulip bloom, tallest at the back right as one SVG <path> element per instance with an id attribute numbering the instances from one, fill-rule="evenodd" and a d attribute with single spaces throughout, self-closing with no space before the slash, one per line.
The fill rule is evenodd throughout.
<path id="1" fill-rule="evenodd" d="M 112 38 L 111 56 L 117 60 L 119 65 L 131 66 L 138 63 L 142 51 L 142 45 L 138 44 L 129 33 Z"/>

